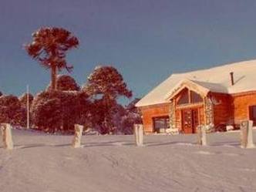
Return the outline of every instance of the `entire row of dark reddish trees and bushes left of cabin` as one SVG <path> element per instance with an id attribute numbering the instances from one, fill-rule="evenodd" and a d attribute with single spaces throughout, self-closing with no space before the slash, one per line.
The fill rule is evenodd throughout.
<path id="1" fill-rule="evenodd" d="M 97 66 L 82 87 L 71 76 L 58 75 L 62 69 L 72 71 L 66 52 L 78 45 L 79 40 L 61 28 L 41 28 L 25 45 L 29 56 L 51 71 L 49 86 L 35 97 L 29 94 L 32 127 L 49 133 L 69 133 L 79 123 L 103 134 L 132 133 L 133 123 L 141 122 L 135 107 L 138 99 L 126 107 L 117 103 L 120 96 L 131 98 L 132 91 L 113 66 Z M 1 95 L 0 122 L 25 126 L 27 95 Z"/>

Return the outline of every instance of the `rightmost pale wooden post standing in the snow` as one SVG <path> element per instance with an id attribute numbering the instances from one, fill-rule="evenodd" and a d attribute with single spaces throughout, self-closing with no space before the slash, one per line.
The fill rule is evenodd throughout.
<path id="1" fill-rule="evenodd" d="M 241 147 L 242 148 L 253 148 L 253 133 L 252 133 L 252 121 L 244 120 L 241 121 L 240 130 L 241 130 Z"/>

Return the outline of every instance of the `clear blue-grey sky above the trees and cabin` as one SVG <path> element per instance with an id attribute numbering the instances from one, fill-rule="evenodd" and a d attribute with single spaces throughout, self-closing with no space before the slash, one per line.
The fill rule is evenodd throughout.
<path id="1" fill-rule="evenodd" d="M 79 84 L 95 66 L 111 64 L 141 97 L 175 72 L 256 58 L 254 0 L 1 0 L 0 90 L 37 93 L 49 71 L 22 45 L 41 26 L 79 38 L 69 52 Z"/>

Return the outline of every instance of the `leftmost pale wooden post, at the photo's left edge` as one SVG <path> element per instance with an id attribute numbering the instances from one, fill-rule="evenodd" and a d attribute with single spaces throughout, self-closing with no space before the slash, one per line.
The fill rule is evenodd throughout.
<path id="1" fill-rule="evenodd" d="M 9 123 L 1 123 L 3 147 L 7 150 L 13 149 L 12 126 Z"/>

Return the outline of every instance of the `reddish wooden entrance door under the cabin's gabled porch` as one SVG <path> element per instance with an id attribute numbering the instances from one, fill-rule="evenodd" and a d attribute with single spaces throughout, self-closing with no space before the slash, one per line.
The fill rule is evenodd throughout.
<path id="1" fill-rule="evenodd" d="M 182 130 L 184 133 L 197 133 L 198 109 L 182 110 Z"/>

